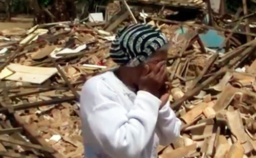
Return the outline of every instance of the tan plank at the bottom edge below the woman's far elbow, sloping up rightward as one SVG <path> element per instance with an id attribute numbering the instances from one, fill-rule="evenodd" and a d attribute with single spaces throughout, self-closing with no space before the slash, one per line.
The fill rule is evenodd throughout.
<path id="1" fill-rule="evenodd" d="M 162 158 L 182 158 L 184 156 L 189 155 L 189 153 L 193 153 L 197 150 L 197 144 L 192 144 L 189 146 L 184 146 L 181 148 L 178 148 L 176 150 L 163 153 L 161 155 Z"/>

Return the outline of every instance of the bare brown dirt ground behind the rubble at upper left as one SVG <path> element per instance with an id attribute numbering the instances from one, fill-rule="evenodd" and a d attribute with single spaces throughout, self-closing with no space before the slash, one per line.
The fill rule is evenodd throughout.
<path id="1" fill-rule="evenodd" d="M 33 17 L 28 15 L 18 15 L 11 18 L 11 21 L 0 22 L 0 30 L 23 28 L 28 29 L 33 26 Z"/>

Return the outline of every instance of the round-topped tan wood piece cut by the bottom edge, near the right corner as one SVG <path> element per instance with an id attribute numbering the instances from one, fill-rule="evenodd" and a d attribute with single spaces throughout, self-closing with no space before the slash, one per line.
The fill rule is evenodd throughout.
<path id="1" fill-rule="evenodd" d="M 227 158 L 243 158 L 243 156 L 244 156 L 244 148 L 239 142 L 234 143 L 230 147 L 227 154 Z"/>

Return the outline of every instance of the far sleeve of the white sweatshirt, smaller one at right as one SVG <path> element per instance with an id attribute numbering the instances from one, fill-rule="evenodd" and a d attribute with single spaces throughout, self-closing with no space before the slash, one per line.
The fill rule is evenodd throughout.
<path id="1" fill-rule="evenodd" d="M 159 110 L 156 125 L 156 133 L 160 145 L 168 145 L 174 142 L 180 135 L 181 121 L 170 108 L 169 101 Z"/>

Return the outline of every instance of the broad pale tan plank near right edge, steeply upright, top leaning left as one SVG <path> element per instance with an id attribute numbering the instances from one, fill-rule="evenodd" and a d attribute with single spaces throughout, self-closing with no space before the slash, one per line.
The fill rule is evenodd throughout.
<path id="1" fill-rule="evenodd" d="M 239 111 L 227 112 L 226 117 L 232 134 L 236 136 L 241 143 L 245 143 L 247 136 Z"/>

